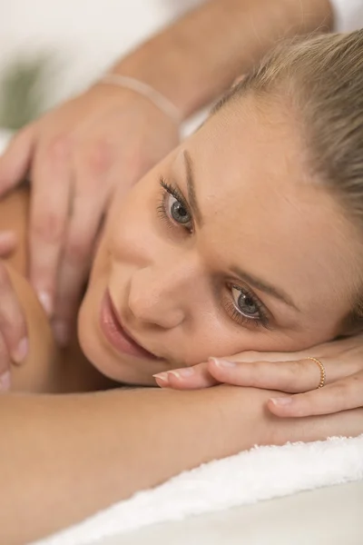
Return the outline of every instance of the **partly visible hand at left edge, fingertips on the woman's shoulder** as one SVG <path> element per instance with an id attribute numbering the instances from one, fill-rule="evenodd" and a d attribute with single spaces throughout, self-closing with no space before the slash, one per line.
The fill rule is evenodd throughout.
<path id="1" fill-rule="evenodd" d="M 15 234 L 0 233 L 0 258 L 15 250 Z M 11 363 L 22 363 L 28 351 L 24 312 L 0 259 L 0 392 L 10 388 Z"/>

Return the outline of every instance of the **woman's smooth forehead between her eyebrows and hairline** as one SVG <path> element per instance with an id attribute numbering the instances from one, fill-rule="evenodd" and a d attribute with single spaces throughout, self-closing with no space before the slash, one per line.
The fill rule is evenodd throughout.
<path id="1" fill-rule="evenodd" d="M 351 230 L 338 203 L 309 180 L 294 128 L 278 115 L 276 123 L 218 116 L 175 158 L 182 174 L 184 151 L 191 157 L 203 252 L 220 265 L 263 272 L 303 307 L 347 292 Z"/>

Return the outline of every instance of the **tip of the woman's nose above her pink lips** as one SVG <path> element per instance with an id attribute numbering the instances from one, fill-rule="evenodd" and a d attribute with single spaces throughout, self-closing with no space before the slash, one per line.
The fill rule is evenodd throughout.
<path id="1" fill-rule="evenodd" d="M 129 310 L 142 321 L 172 329 L 184 322 L 191 300 L 191 275 L 182 267 L 142 268 L 132 274 Z"/>

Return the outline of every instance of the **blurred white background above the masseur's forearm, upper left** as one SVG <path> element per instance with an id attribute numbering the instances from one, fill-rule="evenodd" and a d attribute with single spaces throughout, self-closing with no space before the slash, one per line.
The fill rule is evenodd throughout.
<path id="1" fill-rule="evenodd" d="M 198 0 L 0 0 L 1 70 L 52 54 L 48 103 L 93 81 L 120 55 Z"/>

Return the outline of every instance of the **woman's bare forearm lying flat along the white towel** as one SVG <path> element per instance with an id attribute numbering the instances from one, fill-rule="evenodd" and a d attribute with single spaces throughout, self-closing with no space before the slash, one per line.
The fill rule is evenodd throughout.
<path id="1" fill-rule="evenodd" d="M 218 386 L 0 397 L 0 542 L 38 539 L 256 443 L 363 431 L 362 411 L 280 421 L 265 410 L 270 395 Z"/>

